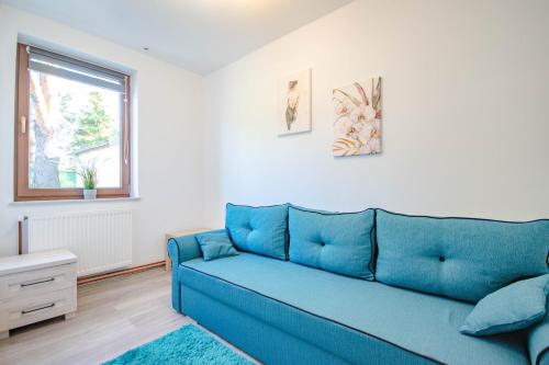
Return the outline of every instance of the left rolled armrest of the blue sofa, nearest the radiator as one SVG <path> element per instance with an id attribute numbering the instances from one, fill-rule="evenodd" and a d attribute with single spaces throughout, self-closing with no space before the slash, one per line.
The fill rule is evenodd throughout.
<path id="1" fill-rule="evenodd" d="M 223 232 L 225 229 L 211 230 L 210 232 Z M 203 233 L 203 232 L 202 232 Z M 181 285 L 179 284 L 178 266 L 182 262 L 202 258 L 197 235 L 187 235 L 170 238 L 168 240 L 168 254 L 171 260 L 171 306 L 181 312 Z"/>

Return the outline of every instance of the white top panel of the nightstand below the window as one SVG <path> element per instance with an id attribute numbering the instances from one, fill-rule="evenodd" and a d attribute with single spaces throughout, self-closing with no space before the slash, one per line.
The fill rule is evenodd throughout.
<path id="1" fill-rule="evenodd" d="M 0 258 L 0 276 L 76 263 L 77 256 L 69 250 L 52 250 Z"/>

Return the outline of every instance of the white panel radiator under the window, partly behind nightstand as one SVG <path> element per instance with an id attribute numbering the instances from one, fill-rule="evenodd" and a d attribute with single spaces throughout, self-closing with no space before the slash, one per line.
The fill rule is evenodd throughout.
<path id="1" fill-rule="evenodd" d="M 132 264 L 132 210 L 94 210 L 25 217 L 23 253 L 68 249 L 78 276 Z"/>

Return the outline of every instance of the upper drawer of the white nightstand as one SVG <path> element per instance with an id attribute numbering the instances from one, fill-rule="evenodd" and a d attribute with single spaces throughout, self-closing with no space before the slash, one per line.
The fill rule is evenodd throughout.
<path id="1" fill-rule="evenodd" d="M 0 276 L 0 304 L 76 286 L 76 264 Z"/>

